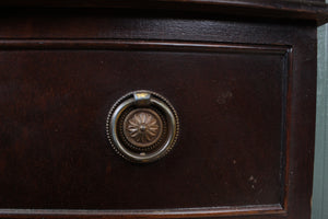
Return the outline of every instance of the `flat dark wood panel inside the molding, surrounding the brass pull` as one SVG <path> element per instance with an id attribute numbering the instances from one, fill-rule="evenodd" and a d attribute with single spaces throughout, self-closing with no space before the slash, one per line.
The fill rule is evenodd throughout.
<path id="1" fill-rule="evenodd" d="M 22 51 L 10 48 L 17 42 L 8 42 L 1 53 L 8 64 L 15 57 L 15 67 L 3 65 L 1 77 L 1 105 L 11 106 L 1 116 L 2 161 L 9 163 L 0 186 L 2 208 L 284 205 L 288 48 L 79 41 L 65 48 L 60 43 L 38 42 L 27 49 L 27 42 Z M 43 50 L 35 50 L 38 45 Z M 136 50 L 112 51 L 115 47 Z M 145 166 L 107 151 L 102 124 L 108 103 L 138 89 L 172 100 L 184 124 L 174 154 Z M 21 193 L 12 196 L 16 189 Z"/>

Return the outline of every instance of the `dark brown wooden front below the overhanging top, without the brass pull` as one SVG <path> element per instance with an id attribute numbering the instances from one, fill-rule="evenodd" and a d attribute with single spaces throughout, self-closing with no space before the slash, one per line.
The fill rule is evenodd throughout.
<path id="1" fill-rule="evenodd" d="M 314 23 L 59 11 L 0 15 L 1 217 L 309 219 Z M 137 89 L 181 123 L 147 165 L 105 134 Z"/>

